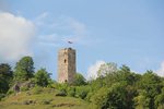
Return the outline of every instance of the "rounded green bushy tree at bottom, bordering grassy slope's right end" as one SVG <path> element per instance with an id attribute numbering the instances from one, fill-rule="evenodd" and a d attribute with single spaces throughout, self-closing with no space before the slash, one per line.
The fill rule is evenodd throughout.
<path id="1" fill-rule="evenodd" d="M 126 102 L 125 85 L 120 83 L 113 84 L 112 87 L 102 87 L 92 98 L 98 109 L 130 109 Z"/>

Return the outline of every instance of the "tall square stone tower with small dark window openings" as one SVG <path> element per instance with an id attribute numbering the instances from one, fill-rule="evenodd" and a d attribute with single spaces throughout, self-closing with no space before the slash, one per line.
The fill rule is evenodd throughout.
<path id="1" fill-rule="evenodd" d="M 58 82 L 72 83 L 75 75 L 75 50 L 65 48 L 58 51 Z"/>

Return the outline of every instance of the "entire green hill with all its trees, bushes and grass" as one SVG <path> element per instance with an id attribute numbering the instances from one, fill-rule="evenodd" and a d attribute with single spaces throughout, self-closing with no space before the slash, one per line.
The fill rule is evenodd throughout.
<path id="1" fill-rule="evenodd" d="M 164 77 L 153 71 L 137 74 L 127 65 L 105 63 L 95 80 L 77 73 L 72 84 L 59 84 L 46 69 L 34 72 L 33 65 L 31 57 L 22 58 L 14 71 L 0 64 L 1 109 L 164 109 Z M 19 92 L 12 90 L 15 85 Z"/>

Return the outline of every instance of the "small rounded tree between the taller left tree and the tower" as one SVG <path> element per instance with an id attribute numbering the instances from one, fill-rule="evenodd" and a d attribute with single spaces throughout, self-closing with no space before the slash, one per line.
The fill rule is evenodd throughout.
<path id="1" fill-rule="evenodd" d="M 37 85 L 46 87 L 49 84 L 50 74 L 46 71 L 46 69 L 40 69 L 35 74 L 35 82 Z"/>

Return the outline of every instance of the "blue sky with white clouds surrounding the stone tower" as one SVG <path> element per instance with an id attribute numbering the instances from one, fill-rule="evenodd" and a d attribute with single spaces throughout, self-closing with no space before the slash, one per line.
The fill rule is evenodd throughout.
<path id="1" fill-rule="evenodd" d="M 72 47 L 86 78 L 107 62 L 164 76 L 163 12 L 163 0 L 0 0 L 0 63 L 31 56 L 57 80 L 58 50 Z"/>

